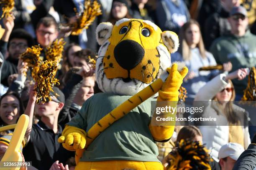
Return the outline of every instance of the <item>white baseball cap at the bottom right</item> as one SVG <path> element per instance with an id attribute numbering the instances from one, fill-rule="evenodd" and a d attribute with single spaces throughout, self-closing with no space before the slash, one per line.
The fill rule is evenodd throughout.
<path id="1" fill-rule="evenodd" d="M 238 157 L 243 151 L 244 148 L 242 145 L 238 143 L 227 143 L 220 148 L 218 158 L 221 159 L 229 156 L 233 160 L 238 160 Z"/>

